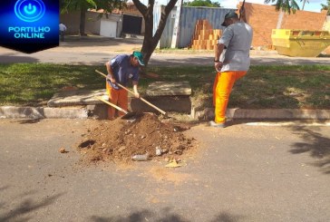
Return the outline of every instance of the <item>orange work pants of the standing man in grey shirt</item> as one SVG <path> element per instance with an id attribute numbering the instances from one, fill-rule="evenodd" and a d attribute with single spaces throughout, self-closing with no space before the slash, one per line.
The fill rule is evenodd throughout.
<path id="1" fill-rule="evenodd" d="M 213 105 L 216 107 L 215 122 L 223 123 L 226 121 L 226 110 L 230 92 L 234 83 L 246 73 L 246 71 L 227 71 L 217 73 L 213 84 Z"/>

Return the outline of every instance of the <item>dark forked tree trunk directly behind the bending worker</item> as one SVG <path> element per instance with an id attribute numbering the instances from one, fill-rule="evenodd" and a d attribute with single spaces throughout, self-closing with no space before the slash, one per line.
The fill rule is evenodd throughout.
<path id="1" fill-rule="evenodd" d="M 145 24 L 145 33 L 142 44 L 141 53 L 143 54 L 144 63 L 147 65 L 149 63 L 151 54 L 155 50 L 162 32 L 164 31 L 166 20 L 170 14 L 170 11 L 173 9 L 178 0 L 170 0 L 168 5 L 161 7 L 160 13 L 160 24 L 158 24 L 156 33 L 153 34 L 153 6 L 155 0 L 149 0 L 148 6 L 141 4 L 140 0 L 132 0 L 136 8 L 142 14 Z"/>

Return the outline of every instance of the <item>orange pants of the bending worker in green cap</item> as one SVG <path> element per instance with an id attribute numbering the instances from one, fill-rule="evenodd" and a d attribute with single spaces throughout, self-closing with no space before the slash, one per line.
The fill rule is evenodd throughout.
<path id="1" fill-rule="evenodd" d="M 112 102 L 112 104 L 115 104 L 121 109 L 127 111 L 128 109 L 128 92 L 124 89 L 115 90 L 112 88 L 112 86 L 109 84 L 109 82 L 106 82 L 106 90 L 109 95 L 109 101 Z M 116 109 L 112 106 L 108 106 L 108 119 L 112 120 L 115 117 Z M 123 116 L 125 113 L 122 111 L 118 111 L 119 116 Z"/>

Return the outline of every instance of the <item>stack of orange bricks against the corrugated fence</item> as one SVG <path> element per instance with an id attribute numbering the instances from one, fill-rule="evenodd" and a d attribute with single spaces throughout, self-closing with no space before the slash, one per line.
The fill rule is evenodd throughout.
<path id="1" fill-rule="evenodd" d="M 221 34 L 222 30 L 212 29 L 212 25 L 209 24 L 208 20 L 198 20 L 191 40 L 191 48 L 195 50 L 214 50 Z"/>

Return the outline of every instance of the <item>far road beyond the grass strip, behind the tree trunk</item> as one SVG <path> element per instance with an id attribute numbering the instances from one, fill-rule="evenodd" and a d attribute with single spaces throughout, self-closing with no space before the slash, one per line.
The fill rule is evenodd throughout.
<path id="1" fill-rule="evenodd" d="M 0 47 L 0 63 L 69 63 L 102 65 L 119 53 L 131 53 L 141 50 L 141 39 L 68 39 L 59 47 L 38 53 L 19 53 Z M 278 55 L 275 51 L 251 52 L 251 64 L 327 64 L 329 57 L 303 58 Z M 213 65 L 212 52 L 190 53 L 188 50 L 180 53 L 153 53 L 149 65 L 181 66 L 181 65 Z"/>

